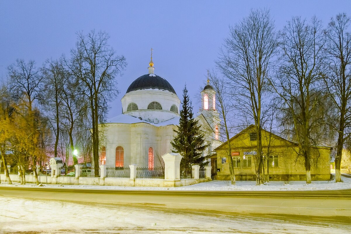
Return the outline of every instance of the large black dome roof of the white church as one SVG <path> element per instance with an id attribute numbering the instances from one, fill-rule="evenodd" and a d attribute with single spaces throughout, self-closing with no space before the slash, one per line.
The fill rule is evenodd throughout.
<path id="1" fill-rule="evenodd" d="M 174 91 L 172 85 L 167 80 L 155 74 L 151 74 L 151 75 L 152 76 L 150 76 L 150 74 L 145 74 L 140 76 L 138 79 L 134 80 L 131 83 L 131 85 L 128 87 L 126 93 L 129 93 L 135 90 L 140 90 L 140 89 L 153 88 L 153 89 L 168 90 L 176 94 L 176 91 Z"/>

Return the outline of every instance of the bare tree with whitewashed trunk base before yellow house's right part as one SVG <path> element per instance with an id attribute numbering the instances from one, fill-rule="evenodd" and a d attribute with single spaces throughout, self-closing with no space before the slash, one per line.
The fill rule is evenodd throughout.
<path id="1" fill-rule="evenodd" d="M 322 81 L 325 68 L 322 24 L 313 17 L 311 24 L 293 17 L 281 33 L 281 57 L 273 89 L 280 98 L 281 122 L 287 135 L 299 145 L 298 157 L 306 169 L 306 183 L 311 183 L 310 147 L 323 142 L 323 109 L 326 95 Z"/>

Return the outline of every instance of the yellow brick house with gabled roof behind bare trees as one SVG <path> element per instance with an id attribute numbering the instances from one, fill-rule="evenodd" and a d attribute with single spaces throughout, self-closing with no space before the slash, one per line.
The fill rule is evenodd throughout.
<path id="1" fill-rule="evenodd" d="M 230 144 L 236 180 L 256 180 L 257 141 L 254 126 L 251 125 L 233 136 Z M 264 172 L 270 180 L 306 179 L 304 159 L 298 156 L 299 147 L 296 142 L 262 130 L 262 146 Z M 311 147 L 312 180 L 330 179 L 331 150 L 332 147 L 327 146 Z M 217 180 L 230 180 L 227 142 L 217 147 L 215 151 L 217 153 L 211 157 L 212 173 L 216 174 Z"/>

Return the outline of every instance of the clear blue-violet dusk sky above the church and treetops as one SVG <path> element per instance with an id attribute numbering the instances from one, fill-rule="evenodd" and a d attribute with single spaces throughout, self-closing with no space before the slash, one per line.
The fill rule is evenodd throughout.
<path id="1" fill-rule="evenodd" d="M 150 48 L 155 74 L 171 83 L 181 99 L 185 83 L 195 96 L 215 67 L 229 26 L 251 8 L 271 10 L 277 30 L 292 16 L 316 15 L 326 26 L 331 16 L 351 15 L 351 1 L 0 1 L 0 80 L 16 59 L 37 66 L 58 59 L 77 41 L 77 31 L 110 34 L 109 44 L 128 63 L 118 76 L 120 94 L 110 103 L 108 118 L 121 114 L 120 99 L 130 83 L 148 73 Z"/>

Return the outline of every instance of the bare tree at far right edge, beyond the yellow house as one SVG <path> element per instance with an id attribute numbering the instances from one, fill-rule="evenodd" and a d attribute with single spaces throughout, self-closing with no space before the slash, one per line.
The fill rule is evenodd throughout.
<path id="1" fill-rule="evenodd" d="M 347 32 L 350 18 L 345 14 L 338 14 L 331 18 L 326 35 L 328 42 L 326 52 L 328 55 L 328 73 L 324 80 L 331 94 L 331 99 L 337 108 L 337 145 L 335 156 L 335 181 L 341 180 L 341 162 L 344 143 L 350 137 L 345 129 L 351 126 L 351 35 Z"/>

